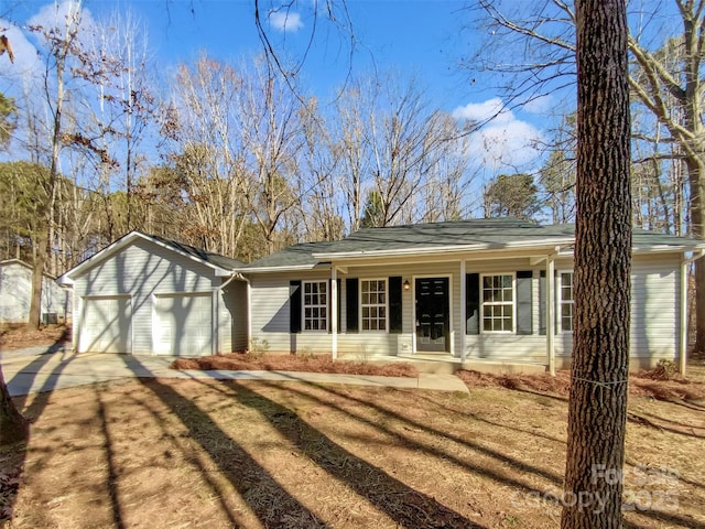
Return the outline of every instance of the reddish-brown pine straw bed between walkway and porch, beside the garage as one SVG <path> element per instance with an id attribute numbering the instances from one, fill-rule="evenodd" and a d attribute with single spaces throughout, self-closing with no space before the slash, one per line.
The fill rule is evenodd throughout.
<path id="1" fill-rule="evenodd" d="M 230 353 L 199 358 L 178 358 L 172 363 L 174 369 L 216 370 L 267 370 L 337 373 L 345 375 L 378 375 L 383 377 L 419 377 L 411 364 L 395 361 L 372 364 L 369 361 L 333 360 L 330 355 L 252 355 Z"/>

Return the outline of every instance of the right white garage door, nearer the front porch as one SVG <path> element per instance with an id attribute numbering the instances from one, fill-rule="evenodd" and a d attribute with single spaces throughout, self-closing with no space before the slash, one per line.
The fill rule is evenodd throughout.
<path id="1" fill-rule="evenodd" d="M 213 295 L 159 295 L 155 302 L 154 345 L 159 355 L 213 354 Z"/>

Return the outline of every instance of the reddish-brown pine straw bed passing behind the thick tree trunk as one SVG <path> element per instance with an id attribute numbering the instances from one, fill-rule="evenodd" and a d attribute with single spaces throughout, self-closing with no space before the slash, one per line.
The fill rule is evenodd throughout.
<path id="1" fill-rule="evenodd" d="M 650 397 L 664 401 L 684 401 L 705 406 L 705 381 L 701 380 L 698 366 L 695 365 L 693 378 L 673 377 L 663 379 L 661 369 L 630 375 L 629 395 Z M 561 370 L 552 377 L 542 375 L 489 375 L 478 371 L 460 370 L 456 374 L 469 387 L 501 387 L 518 391 L 533 391 L 567 398 L 571 390 L 571 373 Z"/>

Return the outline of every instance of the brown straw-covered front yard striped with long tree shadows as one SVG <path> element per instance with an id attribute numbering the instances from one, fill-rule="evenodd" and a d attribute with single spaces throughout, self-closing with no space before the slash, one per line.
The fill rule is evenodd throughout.
<path id="1" fill-rule="evenodd" d="M 297 382 L 127 380 L 21 398 L 12 528 L 557 527 L 567 402 Z M 631 527 L 705 527 L 705 406 L 630 400 Z M 644 478 L 644 476 L 647 476 Z M 17 477 L 17 476 L 15 476 Z"/>

